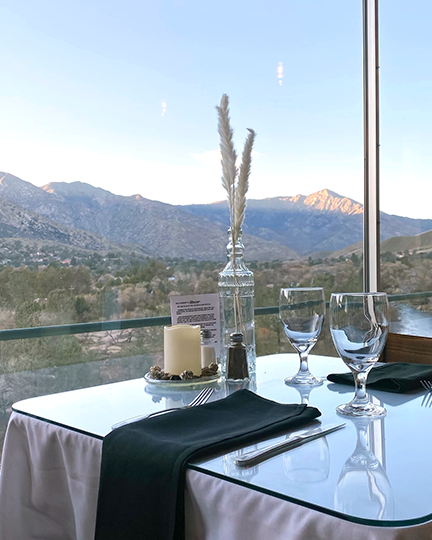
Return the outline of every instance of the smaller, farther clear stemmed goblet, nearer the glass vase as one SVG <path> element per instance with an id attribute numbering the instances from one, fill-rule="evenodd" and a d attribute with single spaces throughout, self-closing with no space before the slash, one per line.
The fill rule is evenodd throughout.
<path id="1" fill-rule="evenodd" d="M 323 380 L 309 371 L 308 355 L 318 341 L 325 316 L 322 287 L 281 289 L 279 317 L 288 341 L 300 356 L 300 369 L 285 384 L 319 386 Z"/>

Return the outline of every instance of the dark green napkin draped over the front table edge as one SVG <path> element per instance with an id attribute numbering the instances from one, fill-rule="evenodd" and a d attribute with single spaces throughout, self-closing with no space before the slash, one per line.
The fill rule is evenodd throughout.
<path id="1" fill-rule="evenodd" d="M 103 440 L 96 540 L 184 537 L 185 465 L 297 428 L 321 413 L 249 390 L 118 428 Z"/>

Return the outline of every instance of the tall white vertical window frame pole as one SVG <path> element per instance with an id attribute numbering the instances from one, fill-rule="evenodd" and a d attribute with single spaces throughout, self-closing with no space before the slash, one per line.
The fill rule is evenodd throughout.
<path id="1" fill-rule="evenodd" d="M 378 0 L 363 0 L 364 217 L 363 288 L 379 290 Z"/>

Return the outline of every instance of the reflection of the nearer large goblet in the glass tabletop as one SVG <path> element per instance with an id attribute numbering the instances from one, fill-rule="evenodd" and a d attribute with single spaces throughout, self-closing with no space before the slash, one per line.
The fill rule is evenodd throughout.
<path id="1" fill-rule="evenodd" d="M 335 491 L 335 510 L 363 518 L 391 520 L 393 491 L 386 470 L 371 448 L 370 418 L 353 418 L 357 430 L 354 452 L 346 460 Z"/>

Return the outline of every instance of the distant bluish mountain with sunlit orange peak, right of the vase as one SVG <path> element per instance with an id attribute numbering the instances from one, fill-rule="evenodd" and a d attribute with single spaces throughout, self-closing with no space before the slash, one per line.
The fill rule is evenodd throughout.
<path id="1" fill-rule="evenodd" d="M 184 206 L 189 212 L 227 223 L 225 202 Z M 363 205 L 324 189 L 308 196 L 249 200 L 244 229 L 271 238 L 301 256 L 333 252 L 363 238 Z M 413 236 L 432 229 L 430 219 L 411 219 L 381 212 L 381 240 Z"/>

